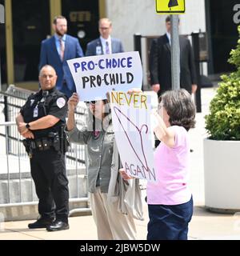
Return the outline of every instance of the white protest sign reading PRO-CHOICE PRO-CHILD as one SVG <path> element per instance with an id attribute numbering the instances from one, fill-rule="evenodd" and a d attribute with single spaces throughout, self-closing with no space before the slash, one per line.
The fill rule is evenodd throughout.
<path id="1" fill-rule="evenodd" d="M 111 90 L 142 87 L 138 51 L 74 58 L 67 61 L 81 101 L 106 99 Z"/>

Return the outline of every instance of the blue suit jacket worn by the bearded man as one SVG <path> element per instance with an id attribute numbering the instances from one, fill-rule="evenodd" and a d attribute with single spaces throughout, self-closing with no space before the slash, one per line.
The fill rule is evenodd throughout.
<path id="1" fill-rule="evenodd" d="M 46 64 L 53 66 L 58 75 L 56 87 L 69 98 L 73 92 L 76 91 L 76 88 L 74 85 L 74 79 L 70 73 L 70 68 L 66 61 L 71 58 L 79 58 L 82 56 L 83 52 L 78 42 L 78 38 L 74 38 L 66 34 L 64 58 L 62 62 L 53 36 L 42 41 L 39 70 Z M 63 82 L 63 78 L 66 80 L 66 83 Z"/>

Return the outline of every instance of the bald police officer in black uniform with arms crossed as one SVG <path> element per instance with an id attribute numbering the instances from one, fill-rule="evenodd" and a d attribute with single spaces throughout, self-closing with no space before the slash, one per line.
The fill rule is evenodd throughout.
<path id="1" fill-rule="evenodd" d="M 41 90 L 30 95 L 16 118 L 18 132 L 25 138 L 39 199 L 40 218 L 28 225 L 30 229 L 69 229 L 69 190 L 63 138 L 67 102 L 66 96 L 55 88 L 56 80 L 54 68 L 43 66 L 39 73 Z"/>

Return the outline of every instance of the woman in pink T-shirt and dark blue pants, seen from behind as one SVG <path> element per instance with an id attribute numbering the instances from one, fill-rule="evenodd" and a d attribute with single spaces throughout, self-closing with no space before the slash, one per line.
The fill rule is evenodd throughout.
<path id="1" fill-rule="evenodd" d="M 147 184 L 150 221 L 148 240 L 186 240 L 193 214 L 190 193 L 187 131 L 195 124 L 195 106 L 184 90 L 169 90 L 160 97 L 154 113 L 154 133 L 162 142 L 154 153 L 157 183 Z M 122 177 L 129 180 L 124 170 Z"/>

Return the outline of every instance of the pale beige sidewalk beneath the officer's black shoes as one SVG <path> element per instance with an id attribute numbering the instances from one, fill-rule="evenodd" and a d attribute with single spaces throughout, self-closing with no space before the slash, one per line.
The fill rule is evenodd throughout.
<path id="1" fill-rule="evenodd" d="M 136 221 L 139 240 L 146 240 L 148 222 L 147 206 L 144 205 L 144 221 Z M 190 222 L 189 239 L 195 240 L 238 240 L 240 239 L 239 219 L 231 214 L 213 214 L 203 206 L 194 206 Z M 92 216 L 71 217 L 70 230 L 47 232 L 44 229 L 29 230 L 31 221 L 5 222 L 0 230 L 1 240 L 97 240 L 96 227 Z"/>

